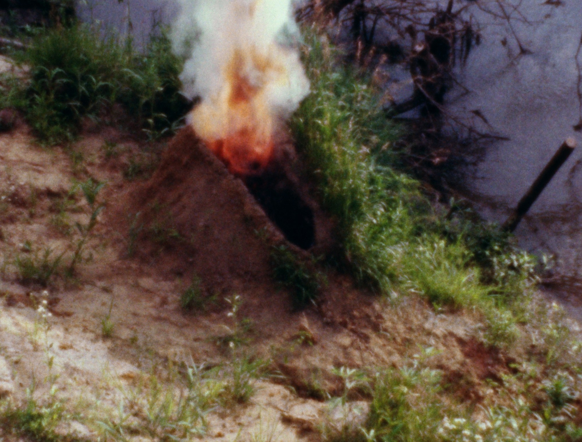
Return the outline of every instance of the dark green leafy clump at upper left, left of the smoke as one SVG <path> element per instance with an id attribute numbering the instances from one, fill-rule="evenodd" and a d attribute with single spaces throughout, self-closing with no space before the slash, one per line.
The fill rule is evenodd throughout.
<path id="1" fill-rule="evenodd" d="M 102 120 L 115 103 L 149 138 L 175 130 L 187 109 L 179 94 L 182 61 L 164 28 L 140 52 L 131 40 L 102 38 L 91 25 L 59 26 L 34 38 L 17 59 L 30 67 L 30 81 L 12 85 L 2 107 L 22 109 L 44 144 L 73 140 L 83 118 Z"/>

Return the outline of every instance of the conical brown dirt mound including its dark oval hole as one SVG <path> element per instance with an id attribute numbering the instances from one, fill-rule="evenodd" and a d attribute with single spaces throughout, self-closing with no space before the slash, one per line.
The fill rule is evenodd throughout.
<path id="1" fill-rule="evenodd" d="M 272 244 L 301 254 L 300 247 L 325 242 L 319 240 L 321 211 L 287 177 L 273 169 L 247 179 L 247 187 L 186 128 L 169 143 L 151 179 L 112 212 L 146 262 L 179 276 L 195 272 L 214 291 L 257 284 L 264 290 L 265 284 L 273 288 Z"/>

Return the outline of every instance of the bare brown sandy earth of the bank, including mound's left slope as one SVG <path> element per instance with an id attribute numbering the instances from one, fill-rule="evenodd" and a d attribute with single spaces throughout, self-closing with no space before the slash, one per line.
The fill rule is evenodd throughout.
<path id="1" fill-rule="evenodd" d="M 265 422 L 278 440 L 318 440 L 322 419 L 333 419 L 321 399 L 342 392 L 333 368 L 402 367 L 432 347 L 439 354 L 430 365 L 443 371 L 448 391 L 478 404 L 489 380 L 519 358 L 519 348 L 509 356 L 485 347 L 471 312 L 435 312 L 414 297 L 383 300 L 331 270 L 317 306 L 297 311 L 272 280 L 269 247 L 306 252 L 286 243 L 242 180 L 190 130 L 163 149 L 150 179 L 124 177 L 132 164 L 158 164 L 161 149 L 111 127 L 70 148 L 39 147 L 24 124 L 0 134 L 0 395 L 22 400 L 33 377 L 52 373 L 59 397 L 84 415 L 113 413 L 152 367 L 228 364 L 223 343 L 239 333 L 246 351 L 269 359 L 278 376 L 257 383 L 248 405 L 212 414 L 201 440 L 251 440 Z M 97 198 L 105 209 L 82 262 L 66 276 L 80 238 L 75 222 L 90 216 L 71 189 L 88 177 L 107 182 Z M 329 237 L 327 223 L 315 208 L 318 240 Z M 38 310 L 44 287 L 24 284 L 17 262 L 40 262 L 47 248 L 49 260 L 62 258 L 47 288 L 52 316 L 45 323 Z M 206 308 L 184 311 L 180 295 L 194 275 Z M 241 306 L 233 317 L 225 298 L 235 294 Z M 111 337 L 102 326 L 108 313 Z M 39 383 L 39 397 L 47 385 Z M 354 399 L 365 408 L 365 397 Z M 74 426 L 63 431 L 97 439 L 88 421 Z"/>

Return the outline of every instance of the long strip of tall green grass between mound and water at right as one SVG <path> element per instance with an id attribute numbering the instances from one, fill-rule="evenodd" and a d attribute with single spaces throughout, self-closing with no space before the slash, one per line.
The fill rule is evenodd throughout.
<path id="1" fill-rule="evenodd" d="M 523 302 L 534 281 L 531 256 L 495 227 L 471 224 L 463 211 L 439 213 L 420 183 L 400 170 L 395 141 L 403 128 L 386 119 L 370 76 L 339 66 L 335 48 L 313 30 L 306 40 L 312 92 L 290 127 L 320 201 L 336 220 L 339 268 L 380 293 L 477 306 L 486 318 Z"/>

